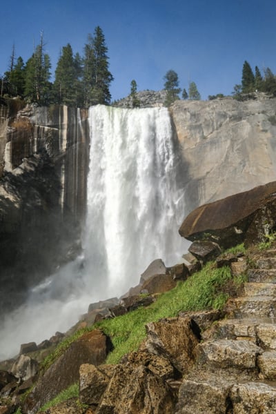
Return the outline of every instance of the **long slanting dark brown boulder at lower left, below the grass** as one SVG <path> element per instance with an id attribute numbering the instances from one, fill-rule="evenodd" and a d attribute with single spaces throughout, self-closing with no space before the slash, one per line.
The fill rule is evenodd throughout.
<path id="1" fill-rule="evenodd" d="M 108 338 L 99 330 L 82 335 L 72 342 L 46 373 L 39 378 L 37 386 L 25 402 L 25 410 L 36 412 L 43 404 L 79 380 L 82 364 L 101 364 L 109 350 Z"/>

